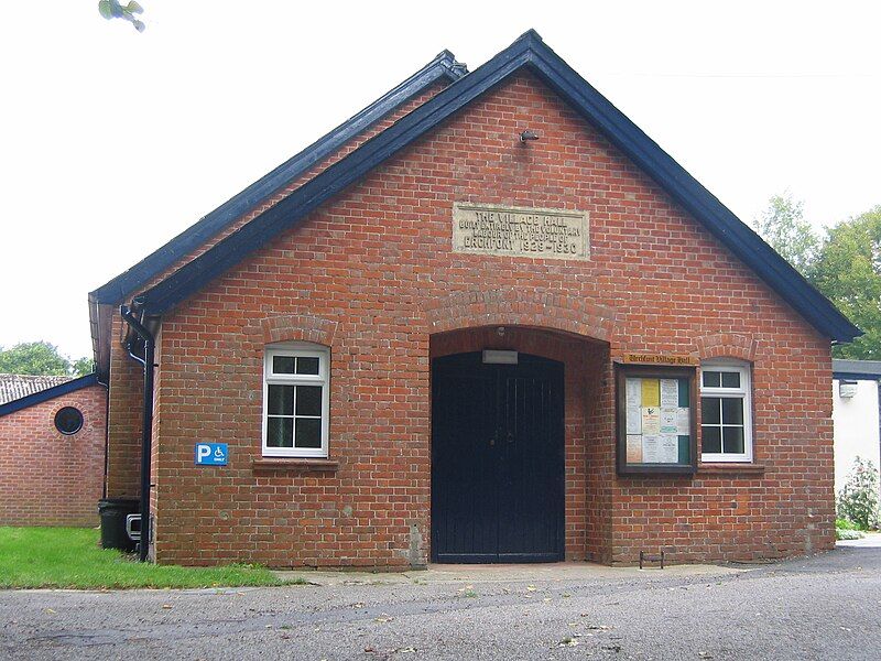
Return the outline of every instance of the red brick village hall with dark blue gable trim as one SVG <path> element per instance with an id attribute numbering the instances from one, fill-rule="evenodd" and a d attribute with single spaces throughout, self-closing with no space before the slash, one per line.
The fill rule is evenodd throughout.
<path id="1" fill-rule="evenodd" d="M 859 329 L 534 32 L 442 53 L 90 303 L 108 497 L 149 477 L 156 562 L 834 543 Z"/>

